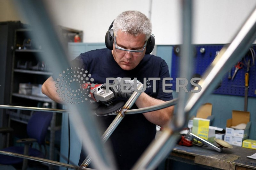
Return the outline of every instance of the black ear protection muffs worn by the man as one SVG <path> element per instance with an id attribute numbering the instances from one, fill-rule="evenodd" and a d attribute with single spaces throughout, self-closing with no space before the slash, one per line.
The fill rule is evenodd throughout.
<path id="1" fill-rule="evenodd" d="M 106 47 L 111 50 L 113 50 L 113 43 L 114 43 L 114 31 L 111 29 L 114 21 L 109 26 L 108 31 L 105 36 Z M 153 34 L 151 34 L 150 37 L 148 38 L 145 54 L 150 54 L 153 51 L 154 46 L 155 46 L 155 36 Z"/>

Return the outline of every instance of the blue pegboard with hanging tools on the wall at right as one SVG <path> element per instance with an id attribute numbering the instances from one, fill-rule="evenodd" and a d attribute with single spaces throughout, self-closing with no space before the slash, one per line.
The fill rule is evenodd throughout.
<path id="1" fill-rule="evenodd" d="M 171 77 L 173 78 L 172 84 L 173 87 L 176 87 L 176 81 L 179 67 L 179 58 L 174 52 L 175 47 L 172 50 L 172 69 L 171 69 Z M 220 51 L 223 45 L 196 45 L 194 46 L 194 64 L 195 71 L 194 74 L 203 75 L 207 67 L 212 63 L 216 56 L 216 52 Z M 200 49 L 204 48 L 205 52 L 200 53 Z M 255 45 L 252 46 L 255 50 Z M 180 54 L 180 53 L 179 53 Z M 245 56 L 249 56 L 251 59 L 251 53 L 247 53 Z M 241 59 L 243 56 L 241 56 Z M 243 60 L 242 60 L 243 61 Z M 239 62 L 239 61 L 237 61 Z M 251 59 L 252 62 L 252 59 Z M 192 64 L 192 63 L 191 63 Z M 235 71 L 235 66 L 231 69 L 231 77 Z M 216 94 L 226 94 L 226 95 L 236 95 L 236 96 L 244 96 L 244 75 L 246 73 L 246 66 L 243 66 L 242 69 L 238 70 L 236 76 L 233 80 L 228 79 L 228 73 L 222 78 L 221 85 L 218 89 L 214 90 L 213 93 Z M 256 97 L 256 63 L 249 70 L 249 88 L 248 88 L 248 96 Z"/>

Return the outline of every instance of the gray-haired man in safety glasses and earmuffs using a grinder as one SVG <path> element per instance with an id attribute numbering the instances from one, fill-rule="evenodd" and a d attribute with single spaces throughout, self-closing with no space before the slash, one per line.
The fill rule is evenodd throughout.
<path id="1" fill-rule="evenodd" d="M 163 78 L 170 77 L 168 66 L 162 58 L 150 55 L 155 45 L 154 36 L 151 34 L 151 21 L 139 11 L 124 11 L 112 24 L 105 37 L 107 48 L 80 54 L 74 62 L 91 73 L 95 83 L 103 84 L 106 78 L 116 78 L 118 81 L 116 98 L 123 98 L 127 101 L 134 91 L 131 88 L 130 93 L 124 94 L 120 90 L 121 78 L 131 78 L 131 84 L 140 82 L 147 84 L 145 92 L 141 93 L 132 109 L 154 106 L 172 100 L 172 93 L 163 92 Z M 134 78 L 139 81 L 133 82 Z M 149 78 L 159 80 L 153 82 Z M 53 78 L 48 78 L 42 86 L 42 92 L 51 99 L 62 102 L 58 98 L 54 85 Z M 166 86 L 165 90 L 171 90 L 171 87 Z M 124 117 L 109 138 L 118 169 L 132 168 L 155 139 L 156 125 L 163 127 L 170 122 L 172 113 L 173 107 L 167 107 Z M 99 117 L 99 119 L 107 128 L 115 117 L 115 115 L 108 115 Z M 85 158 L 86 154 L 82 150 L 79 165 Z"/>

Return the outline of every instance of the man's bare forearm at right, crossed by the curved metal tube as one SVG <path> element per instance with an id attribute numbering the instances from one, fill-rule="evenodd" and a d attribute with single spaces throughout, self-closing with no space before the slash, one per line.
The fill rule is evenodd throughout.
<path id="1" fill-rule="evenodd" d="M 165 101 L 163 100 L 154 99 L 148 96 L 145 92 L 143 92 L 140 94 L 140 97 L 136 100 L 135 104 L 137 105 L 138 108 L 143 108 L 154 106 L 164 102 Z M 158 126 L 163 127 L 164 124 L 170 122 L 173 110 L 174 106 L 171 106 L 164 109 L 143 113 L 143 115 L 146 117 L 146 119 L 148 119 L 149 122 L 152 122 Z"/>

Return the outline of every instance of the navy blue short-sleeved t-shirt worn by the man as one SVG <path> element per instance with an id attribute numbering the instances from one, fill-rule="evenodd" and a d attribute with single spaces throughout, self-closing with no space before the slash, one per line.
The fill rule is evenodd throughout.
<path id="1" fill-rule="evenodd" d="M 93 83 L 106 83 L 106 78 L 137 78 L 143 82 L 143 78 L 161 78 L 156 80 L 156 92 L 153 92 L 153 80 L 148 80 L 146 93 L 156 99 L 172 100 L 172 93 L 165 93 L 162 90 L 162 80 L 170 77 L 166 62 L 154 55 L 145 55 L 139 65 L 132 70 L 123 70 L 114 60 L 111 50 L 107 48 L 92 50 L 80 54 L 75 63 L 80 68 L 88 71 L 93 78 Z M 169 82 L 166 82 L 169 83 Z M 171 90 L 166 86 L 166 90 Z M 137 108 L 136 105 L 132 109 Z M 103 122 L 105 128 L 114 120 L 115 115 L 97 117 Z M 114 156 L 118 169 L 131 169 L 134 163 L 140 158 L 148 145 L 155 139 L 156 125 L 149 122 L 142 114 L 125 115 L 124 119 L 117 126 L 109 140 L 112 144 Z M 79 165 L 86 158 L 81 151 Z"/>

